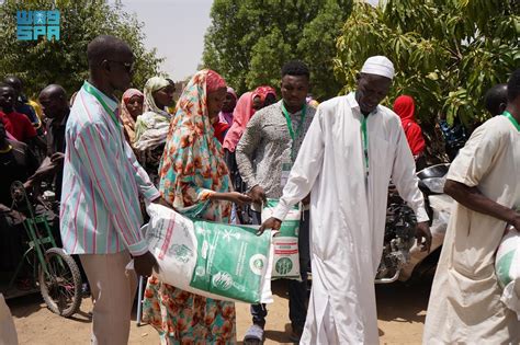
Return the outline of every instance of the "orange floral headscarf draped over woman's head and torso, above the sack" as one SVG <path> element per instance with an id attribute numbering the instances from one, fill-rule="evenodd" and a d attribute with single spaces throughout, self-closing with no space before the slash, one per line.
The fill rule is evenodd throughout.
<path id="1" fill-rule="evenodd" d="M 183 214 L 222 221 L 229 216 L 230 204 L 208 199 L 215 192 L 229 191 L 224 152 L 207 113 L 208 90 L 225 85 L 215 74 L 211 70 L 195 73 L 177 103 L 159 166 L 159 191 Z"/>

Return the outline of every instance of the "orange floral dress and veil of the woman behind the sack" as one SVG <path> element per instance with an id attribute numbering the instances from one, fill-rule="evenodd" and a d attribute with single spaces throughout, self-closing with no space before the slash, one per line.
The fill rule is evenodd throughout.
<path id="1" fill-rule="evenodd" d="M 231 205 L 208 198 L 229 192 L 229 176 L 207 115 L 207 72 L 197 72 L 179 100 L 159 168 L 159 191 L 189 217 L 227 222 Z M 236 342 L 233 302 L 186 292 L 155 277 L 146 287 L 144 318 L 158 330 L 161 344 Z"/>

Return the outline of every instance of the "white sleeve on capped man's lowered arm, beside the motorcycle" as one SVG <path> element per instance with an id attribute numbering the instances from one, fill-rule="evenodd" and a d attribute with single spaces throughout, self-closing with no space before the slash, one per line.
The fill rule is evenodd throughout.
<path id="1" fill-rule="evenodd" d="M 416 176 L 414 157 L 403 128 L 398 130 L 392 181 L 397 187 L 399 196 L 414 209 L 417 221 L 428 221 L 430 218 L 425 209 L 425 197 L 418 186 L 419 179 Z"/>

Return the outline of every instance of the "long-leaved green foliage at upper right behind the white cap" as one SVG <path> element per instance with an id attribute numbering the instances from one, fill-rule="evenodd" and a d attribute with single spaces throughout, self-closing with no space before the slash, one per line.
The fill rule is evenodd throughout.
<path id="1" fill-rule="evenodd" d="M 338 39 L 335 71 L 344 90 L 372 55 L 395 65 L 389 99 L 415 96 L 418 115 L 455 117 L 472 127 L 486 119 L 485 92 L 520 66 L 520 16 L 515 0 L 388 0 L 355 3 Z"/>

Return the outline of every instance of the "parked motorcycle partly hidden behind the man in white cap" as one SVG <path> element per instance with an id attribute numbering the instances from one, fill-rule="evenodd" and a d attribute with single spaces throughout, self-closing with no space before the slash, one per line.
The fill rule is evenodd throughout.
<path id="1" fill-rule="evenodd" d="M 375 277 L 376 284 L 408 280 L 414 269 L 442 245 L 453 204 L 453 199 L 443 192 L 449 166 L 450 164 L 437 164 L 417 173 L 419 189 L 425 195 L 426 209 L 430 217 L 432 242 L 429 253 L 421 252 L 416 244 L 417 219 L 414 210 L 399 197 L 396 188 L 389 186 L 384 246 Z"/>

